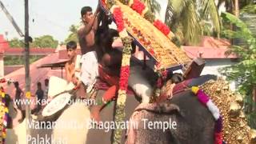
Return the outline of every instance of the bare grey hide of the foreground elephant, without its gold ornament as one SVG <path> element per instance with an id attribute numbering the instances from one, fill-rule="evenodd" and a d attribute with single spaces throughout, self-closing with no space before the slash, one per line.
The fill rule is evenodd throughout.
<path id="1" fill-rule="evenodd" d="M 216 80 L 216 77 L 194 78 L 186 82 L 186 86 L 198 86 L 210 79 Z M 130 123 L 136 123 L 138 127 L 129 127 L 126 144 L 214 143 L 214 117 L 190 89 L 174 93 L 171 99 L 140 104 L 130 117 Z M 167 130 L 163 128 L 164 124 L 169 127 Z"/>

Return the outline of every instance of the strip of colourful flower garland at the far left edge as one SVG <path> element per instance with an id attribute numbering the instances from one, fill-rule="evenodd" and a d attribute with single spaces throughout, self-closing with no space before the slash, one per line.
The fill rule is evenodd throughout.
<path id="1" fill-rule="evenodd" d="M 9 110 L 6 107 L 6 102 L 4 100 L 4 98 L 6 97 L 6 94 L 0 90 L 0 95 L 1 95 L 1 99 L 2 101 L 0 102 L 0 143 L 5 143 L 5 139 L 6 139 L 6 126 L 7 126 L 7 122 L 8 122 L 8 113 Z"/>

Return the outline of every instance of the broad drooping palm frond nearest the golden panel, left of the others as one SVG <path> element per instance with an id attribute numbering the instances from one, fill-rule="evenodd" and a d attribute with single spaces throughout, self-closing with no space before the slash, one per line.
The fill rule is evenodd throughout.
<path id="1" fill-rule="evenodd" d="M 178 39 L 186 44 L 196 44 L 201 37 L 202 28 L 195 5 L 194 0 L 169 0 L 166 9 L 167 26 L 170 26 Z"/>

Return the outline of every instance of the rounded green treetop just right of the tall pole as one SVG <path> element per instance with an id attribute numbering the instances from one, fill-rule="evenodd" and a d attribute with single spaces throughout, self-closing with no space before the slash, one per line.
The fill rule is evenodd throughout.
<path id="1" fill-rule="evenodd" d="M 50 47 L 56 48 L 58 46 L 58 41 L 55 40 L 51 35 L 43 35 L 38 38 L 34 38 L 34 42 L 31 43 L 31 47 Z"/>

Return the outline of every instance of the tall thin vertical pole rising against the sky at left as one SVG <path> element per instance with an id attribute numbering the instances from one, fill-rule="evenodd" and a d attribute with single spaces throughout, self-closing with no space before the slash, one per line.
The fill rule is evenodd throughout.
<path id="1" fill-rule="evenodd" d="M 30 99 L 30 33 L 29 33 L 29 0 L 25 0 L 25 82 L 26 98 Z M 30 122 L 30 103 L 26 103 L 26 134 L 30 134 L 27 122 Z"/>

